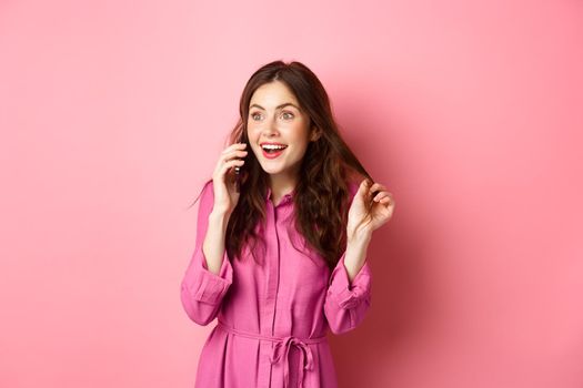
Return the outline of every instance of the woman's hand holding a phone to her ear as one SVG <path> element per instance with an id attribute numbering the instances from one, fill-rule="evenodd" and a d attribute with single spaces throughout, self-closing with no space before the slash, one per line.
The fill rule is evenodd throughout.
<path id="1" fill-rule="evenodd" d="M 241 194 L 237 192 L 234 167 L 241 167 L 244 164 L 245 161 L 242 159 L 248 154 L 245 149 L 247 143 L 234 143 L 221 152 L 212 174 L 214 212 L 230 215 L 239 202 Z"/>

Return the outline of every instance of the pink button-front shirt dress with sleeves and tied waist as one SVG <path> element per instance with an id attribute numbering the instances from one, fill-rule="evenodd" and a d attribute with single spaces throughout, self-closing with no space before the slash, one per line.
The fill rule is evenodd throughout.
<path id="1" fill-rule="evenodd" d="M 352 197 L 356 190 L 352 184 Z M 229 259 L 225 249 L 215 275 L 202 252 L 214 198 L 212 181 L 204 186 L 195 248 L 180 286 L 190 319 L 208 325 L 217 318 L 200 355 L 195 388 L 338 387 L 326 334 L 362 321 L 372 274 L 365 262 L 351 284 L 344 254 L 330 273 L 293 226 L 292 195 L 274 205 L 268 188 L 267 224 L 255 229 L 268 244 L 263 265 L 245 245 L 243 261 Z"/>

